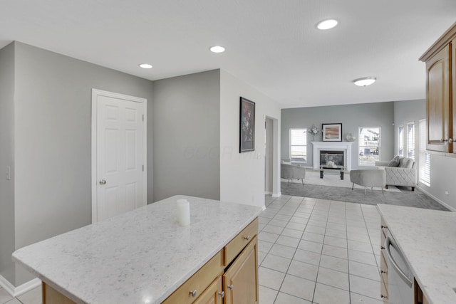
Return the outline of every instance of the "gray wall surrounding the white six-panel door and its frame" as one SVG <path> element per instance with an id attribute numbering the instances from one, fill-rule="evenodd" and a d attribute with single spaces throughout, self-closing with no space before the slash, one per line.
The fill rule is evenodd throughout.
<path id="1" fill-rule="evenodd" d="M 15 246 L 20 248 L 90 224 L 92 88 L 147 98 L 151 148 L 153 85 L 24 43 L 16 42 L 15 50 Z M 151 201 L 152 149 L 147 163 Z M 16 285 L 28 279 L 18 276 Z"/>

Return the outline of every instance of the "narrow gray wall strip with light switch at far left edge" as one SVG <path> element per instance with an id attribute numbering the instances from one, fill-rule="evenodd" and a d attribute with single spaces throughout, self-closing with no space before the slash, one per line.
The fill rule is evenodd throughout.
<path id="1" fill-rule="evenodd" d="M 0 172 L 0 276 L 14 282 L 14 43 L 0 50 Z"/>

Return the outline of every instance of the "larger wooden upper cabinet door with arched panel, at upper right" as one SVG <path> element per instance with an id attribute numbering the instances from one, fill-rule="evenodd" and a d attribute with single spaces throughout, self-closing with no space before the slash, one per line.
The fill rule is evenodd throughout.
<path id="1" fill-rule="evenodd" d="M 450 46 L 426 62 L 427 150 L 452 152 L 450 113 Z"/>

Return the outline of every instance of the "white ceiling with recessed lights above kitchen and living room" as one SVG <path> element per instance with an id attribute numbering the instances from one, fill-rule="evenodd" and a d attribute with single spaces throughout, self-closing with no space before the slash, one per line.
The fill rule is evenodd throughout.
<path id="1" fill-rule="evenodd" d="M 330 17 L 336 28 L 316 30 Z M 0 0 L 0 48 L 150 80 L 222 68 L 295 108 L 425 98 L 418 58 L 455 21 L 456 0 Z M 351 83 L 363 76 L 378 80 Z"/>

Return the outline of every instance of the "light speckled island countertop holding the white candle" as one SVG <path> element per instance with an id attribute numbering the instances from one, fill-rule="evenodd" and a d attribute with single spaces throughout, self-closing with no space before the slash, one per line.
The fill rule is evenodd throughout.
<path id="1" fill-rule="evenodd" d="M 190 201 L 190 226 L 177 224 L 180 198 Z M 172 196 L 20 248 L 13 259 L 76 303 L 160 303 L 261 210 Z"/>

